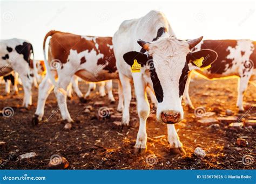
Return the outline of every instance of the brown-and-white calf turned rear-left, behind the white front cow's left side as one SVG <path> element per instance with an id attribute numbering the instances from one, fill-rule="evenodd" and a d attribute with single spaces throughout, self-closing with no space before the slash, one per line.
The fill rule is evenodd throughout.
<path id="1" fill-rule="evenodd" d="M 50 36 L 47 61 L 45 43 Z M 79 36 L 60 31 L 50 31 L 44 38 L 43 49 L 47 73 L 39 84 L 37 110 L 32 123 L 37 124 L 41 121 L 44 115 L 46 98 L 54 87 L 60 114 L 67 122 L 65 129 L 70 129 L 73 120 L 66 104 L 66 89 L 72 76 L 77 75 L 89 82 L 118 79 L 112 38 Z M 56 78 L 58 78 L 58 81 L 55 81 Z M 122 95 L 120 95 L 118 110 L 122 110 L 122 108 L 123 101 Z"/>

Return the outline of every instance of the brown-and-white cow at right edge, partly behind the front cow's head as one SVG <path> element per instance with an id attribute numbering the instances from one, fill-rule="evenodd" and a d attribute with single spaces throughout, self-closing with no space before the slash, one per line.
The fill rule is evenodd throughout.
<path id="1" fill-rule="evenodd" d="M 237 107 L 239 112 L 244 111 L 242 98 L 249 80 L 255 80 L 256 76 L 256 42 L 252 40 L 203 40 L 193 51 L 200 49 L 212 49 L 218 53 L 218 59 L 213 65 L 205 70 L 195 70 L 201 76 L 208 80 L 220 79 L 223 77 L 238 77 L 238 97 Z M 190 109 L 194 109 L 188 94 L 188 88 L 191 80 L 189 75 L 184 100 Z"/>

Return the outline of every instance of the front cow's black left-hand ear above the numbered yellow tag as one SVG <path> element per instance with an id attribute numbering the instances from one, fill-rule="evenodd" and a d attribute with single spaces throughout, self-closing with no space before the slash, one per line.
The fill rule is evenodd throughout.
<path id="1" fill-rule="evenodd" d="M 131 51 L 127 52 L 123 55 L 123 58 L 125 62 L 132 67 L 134 64 L 134 60 L 136 60 L 140 65 L 146 65 L 147 60 L 147 55 L 142 53 L 142 52 L 136 52 L 136 51 Z"/>

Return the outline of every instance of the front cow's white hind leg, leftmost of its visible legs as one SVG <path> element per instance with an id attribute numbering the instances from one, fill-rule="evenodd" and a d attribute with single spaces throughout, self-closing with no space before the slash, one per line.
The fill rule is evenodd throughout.
<path id="1" fill-rule="evenodd" d="M 122 116 L 122 124 L 129 125 L 130 121 L 130 103 L 132 99 L 132 91 L 131 91 L 131 83 L 130 79 L 125 75 L 119 73 L 120 81 L 123 87 L 123 95 L 124 95 L 124 110 Z"/>

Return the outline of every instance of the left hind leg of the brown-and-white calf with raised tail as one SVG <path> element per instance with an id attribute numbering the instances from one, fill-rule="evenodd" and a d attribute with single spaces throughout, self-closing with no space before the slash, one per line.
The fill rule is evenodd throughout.
<path id="1" fill-rule="evenodd" d="M 35 115 L 33 116 L 33 119 L 32 119 L 32 125 L 37 125 L 38 122 L 42 120 L 44 116 L 45 102 L 47 97 L 51 93 L 52 89 L 53 89 L 53 84 L 50 82 L 48 74 L 46 74 L 42 82 L 39 84 L 37 108 L 36 108 Z M 50 117 L 47 118 L 47 121 L 49 120 L 50 120 Z"/>

